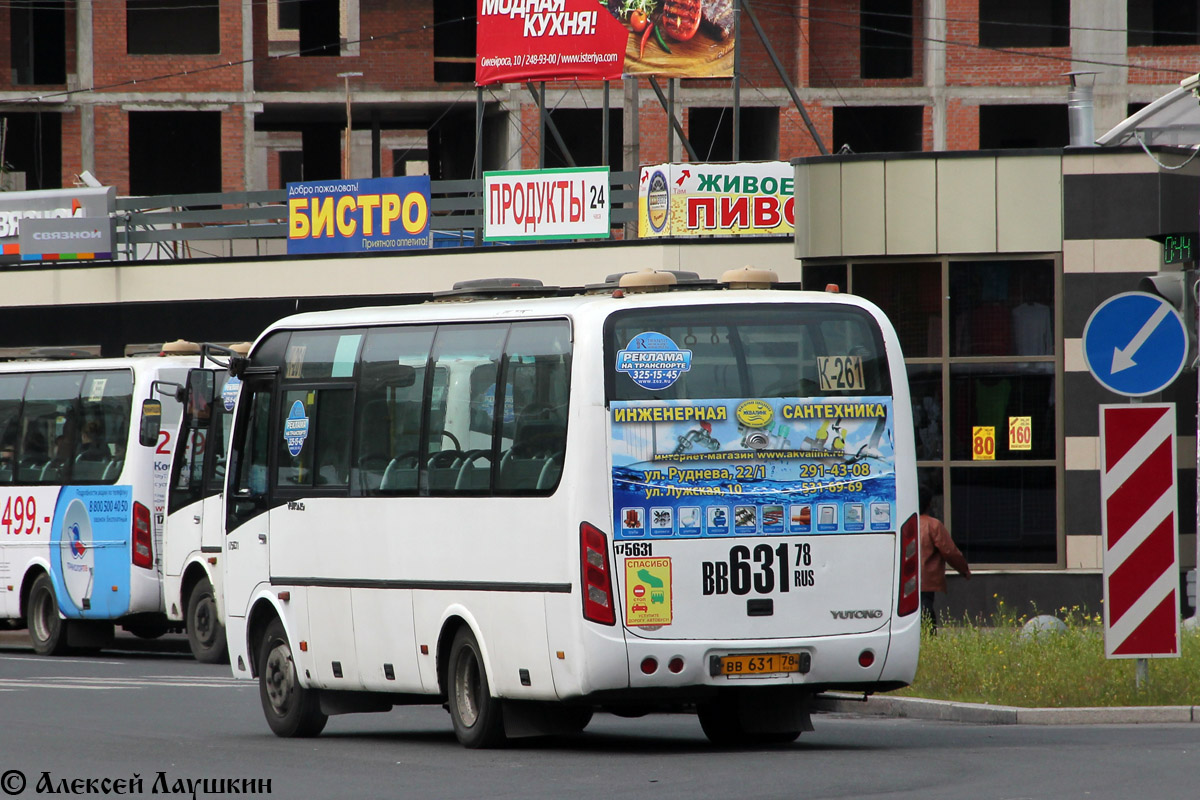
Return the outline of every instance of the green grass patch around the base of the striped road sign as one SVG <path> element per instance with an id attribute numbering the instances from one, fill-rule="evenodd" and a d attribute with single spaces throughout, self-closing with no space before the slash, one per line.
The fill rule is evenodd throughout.
<path id="1" fill-rule="evenodd" d="M 1063 632 L 1021 636 L 1027 618 L 998 601 L 992 620 L 925 630 L 913 685 L 894 692 L 1022 708 L 1200 705 L 1200 631 L 1181 631 L 1181 657 L 1151 658 L 1135 686 L 1133 658 L 1104 657 L 1104 626 L 1078 607 L 1056 614 Z"/>

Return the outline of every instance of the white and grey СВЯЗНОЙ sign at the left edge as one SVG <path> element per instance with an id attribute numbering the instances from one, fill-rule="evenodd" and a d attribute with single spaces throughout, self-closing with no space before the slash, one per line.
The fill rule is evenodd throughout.
<path id="1" fill-rule="evenodd" d="M 70 252 L 77 258 L 109 258 L 110 215 L 115 207 L 116 188 L 113 186 L 2 192 L 0 193 L 0 252 L 2 252 L 0 261 L 41 260 L 42 253 L 54 252 L 64 254 Z M 42 225 L 36 231 L 38 235 L 35 245 L 32 243 L 35 231 L 31 230 L 22 236 L 23 222 L 26 219 L 84 222 Z M 60 230 L 58 237 L 54 237 L 56 229 Z M 92 230 L 100 231 L 98 239 L 91 235 Z M 106 237 L 107 249 L 102 249 L 100 243 L 103 243 Z M 78 246 L 78 241 L 83 240 L 89 242 L 86 247 Z M 72 241 L 76 243 L 70 243 Z M 66 243 L 70 246 L 64 246 Z M 28 246 L 36 247 L 36 252 L 26 249 Z M 55 249 L 59 247 L 62 249 Z"/>

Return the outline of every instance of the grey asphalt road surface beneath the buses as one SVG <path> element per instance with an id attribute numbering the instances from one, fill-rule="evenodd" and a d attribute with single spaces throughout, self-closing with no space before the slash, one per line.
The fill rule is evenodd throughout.
<path id="1" fill-rule="evenodd" d="M 340 716 L 275 738 L 258 690 L 186 645 L 122 638 L 95 657 L 42 658 L 0 634 L 0 800 L 55 789 L 191 796 L 186 781 L 270 781 L 305 798 L 1157 798 L 1196 796 L 1200 724 L 984 726 L 822 714 L 786 747 L 713 748 L 688 715 L 596 715 L 576 738 L 467 751 L 438 706 Z M 158 783 L 158 774 L 163 775 Z M 62 781 L 67 783 L 62 783 Z M 108 784 L 109 788 L 115 784 Z M 211 786 L 211 784 L 210 784 Z M 156 790 L 157 789 L 157 790 Z M 178 790 L 176 790 L 178 789 Z M 42 794 L 46 794 L 44 792 Z M 66 792 L 60 792 L 66 794 Z M 109 790 L 108 794 L 114 794 Z M 197 792 L 197 796 L 217 796 Z"/>

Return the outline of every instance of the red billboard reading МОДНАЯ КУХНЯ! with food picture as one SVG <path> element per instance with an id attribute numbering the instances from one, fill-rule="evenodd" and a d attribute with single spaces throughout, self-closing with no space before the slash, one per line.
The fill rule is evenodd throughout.
<path id="1" fill-rule="evenodd" d="M 733 76 L 733 1 L 476 0 L 475 83 Z"/>

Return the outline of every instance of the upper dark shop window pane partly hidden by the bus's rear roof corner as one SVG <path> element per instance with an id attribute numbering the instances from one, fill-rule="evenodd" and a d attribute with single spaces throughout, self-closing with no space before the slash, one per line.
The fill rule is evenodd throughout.
<path id="1" fill-rule="evenodd" d="M 856 264 L 853 281 L 892 320 L 905 356 L 942 355 L 941 264 Z"/>

